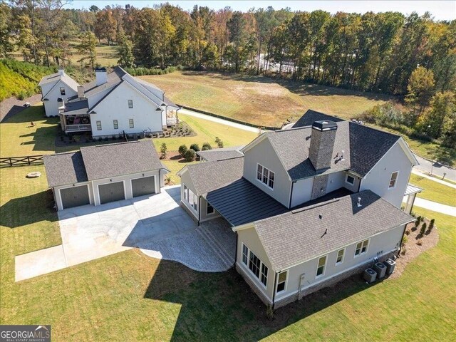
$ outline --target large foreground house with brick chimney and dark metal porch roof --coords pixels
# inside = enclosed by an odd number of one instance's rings
[[[244,155],[185,166],[182,207],[237,232],[236,267],[274,308],[397,254],[414,165],[398,135],[309,110]]]

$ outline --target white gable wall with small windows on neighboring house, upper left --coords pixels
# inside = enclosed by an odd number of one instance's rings
[[[133,108],[128,108],[128,100],[133,100]],[[128,83],[115,88],[90,114],[93,136],[140,133],[144,130],[160,132],[162,130],[162,113],[157,106],[144,95],[138,93]],[[134,128],[130,128],[129,120],[133,119]],[[113,120],[118,120],[115,130]],[[97,121],[101,121],[102,130],[97,130]]]

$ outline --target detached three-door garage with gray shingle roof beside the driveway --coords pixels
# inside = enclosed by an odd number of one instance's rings
[[[168,172],[147,140],[45,155],[44,166],[58,210],[159,193]]]

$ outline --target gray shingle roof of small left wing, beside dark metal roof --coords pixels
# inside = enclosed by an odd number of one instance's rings
[[[242,177],[244,157],[227,160],[200,162],[187,165],[197,195],[224,187]]]

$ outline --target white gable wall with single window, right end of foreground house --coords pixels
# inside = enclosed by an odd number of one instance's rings
[[[394,188],[388,188],[391,173],[399,171]],[[393,147],[379,160],[377,165],[361,181],[361,190],[372,190],[395,207],[400,208],[408,180],[412,172],[412,162],[405,155],[404,150],[396,142]]]

